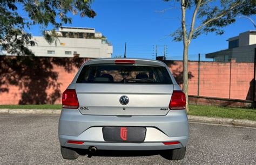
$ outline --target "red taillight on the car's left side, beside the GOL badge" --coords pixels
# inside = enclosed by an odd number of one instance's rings
[[[62,107],[77,109],[79,106],[75,89],[66,89],[62,94]]]

